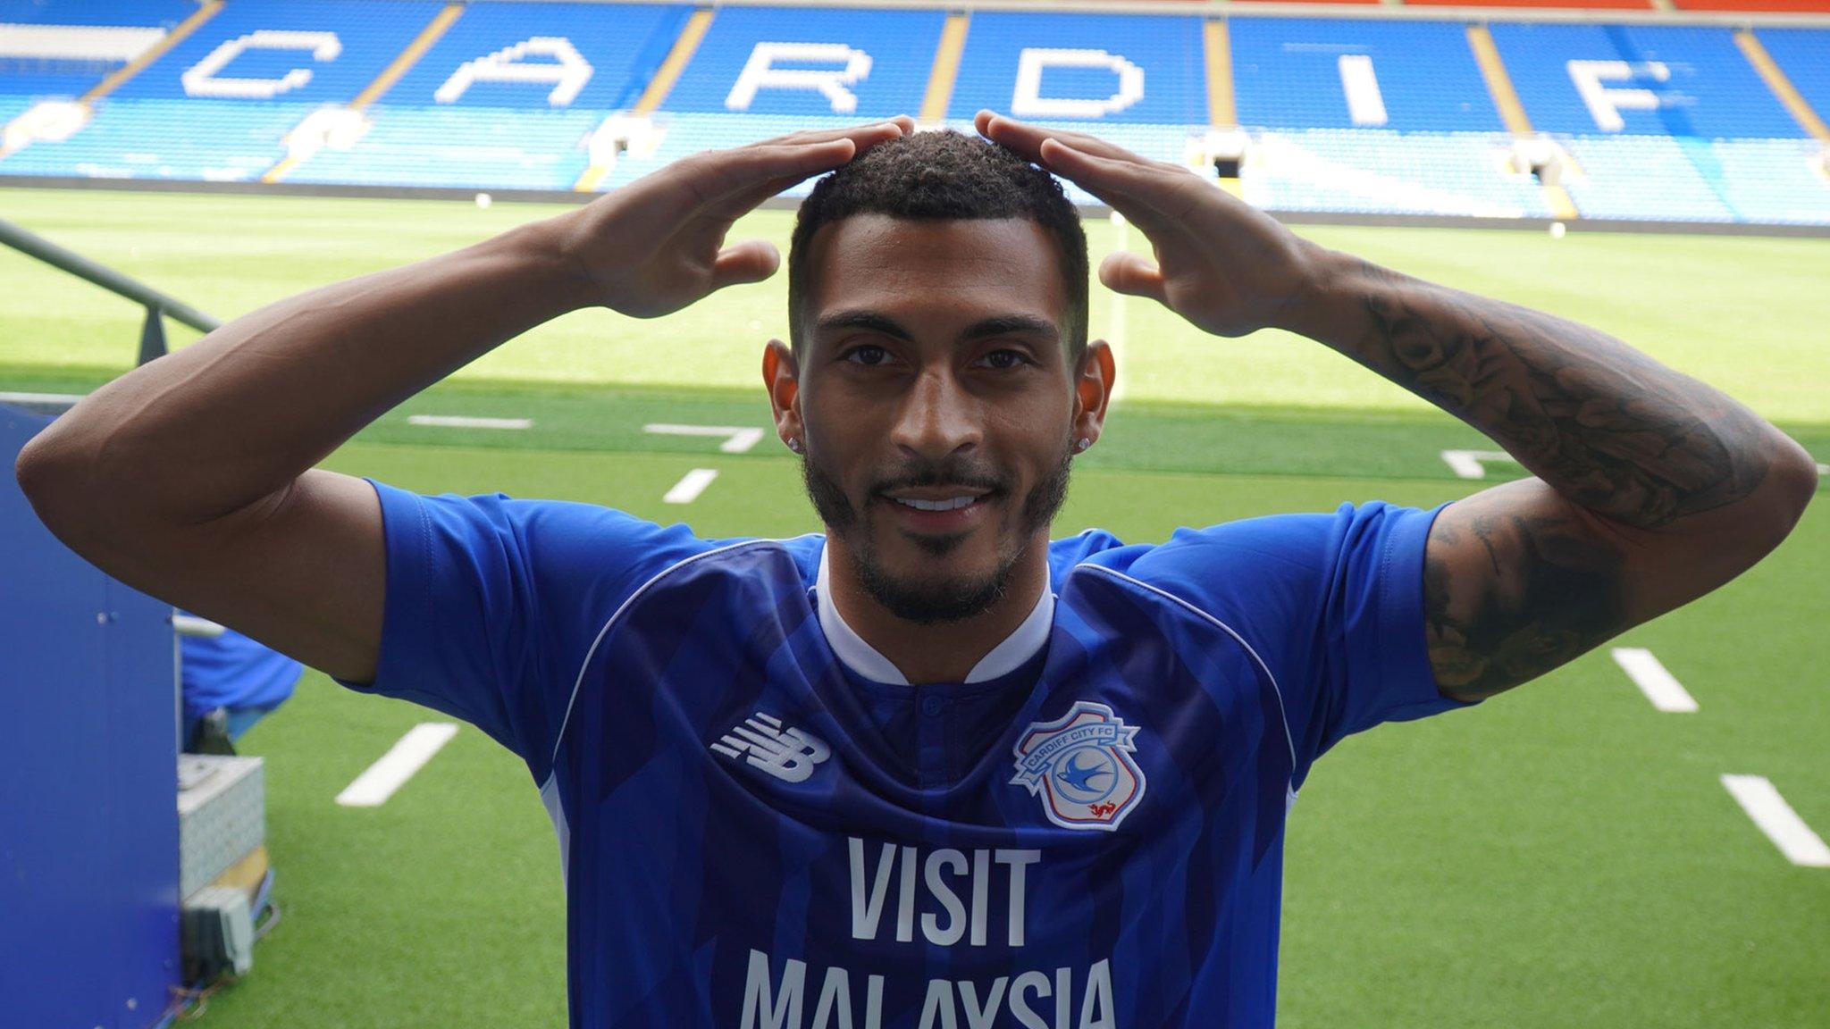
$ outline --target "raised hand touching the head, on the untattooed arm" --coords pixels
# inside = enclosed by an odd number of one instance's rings
[[[791,185],[915,132],[915,121],[796,132],[736,150],[675,161],[562,214],[560,245],[586,280],[589,302],[653,319],[781,265],[763,240],[725,245],[732,222]]]

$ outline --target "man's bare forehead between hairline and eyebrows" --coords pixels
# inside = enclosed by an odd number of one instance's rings
[[[1061,324],[1067,309],[1056,244],[1027,218],[858,214],[814,233],[807,256],[813,320],[869,309],[911,320],[1032,315]]]

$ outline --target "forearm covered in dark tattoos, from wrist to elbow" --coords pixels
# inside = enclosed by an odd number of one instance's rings
[[[1347,255],[1292,328],[1482,430],[1568,500],[1656,529],[1733,505],[1803,450],[1614,337]]]

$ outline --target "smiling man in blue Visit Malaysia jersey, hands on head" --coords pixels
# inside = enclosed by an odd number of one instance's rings
[[[1285,818],[1378,721],[1515,687],[1779,544],[1786,436],[1570,322],[1325,251],[1202,183],[990,114],[701,154],[456,255],[247,315],[20,456],[128,584],[518,753],[560,835],[573,1025],[1270,1025]],[[1138,225],[1105,286],[1299,331],[1539,478],[1437,511],[1049,542],[1096,445],[1071,178]],[[562,311],[769,276],[763,374],[827,525],[695,538],[311,465]],[[690,359],[690,355],[683,355]]]

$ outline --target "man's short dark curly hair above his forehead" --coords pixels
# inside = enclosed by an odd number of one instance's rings
[[[1087,233],[1061,183],[1016,152],[959,132],[917,132],[878,143],[820,179],[800,205],[789,244],[789,339],[802,352],[807,249],[822,225],[855,214],[910,222],[1027,218],[1043,227],[1061,258],[1067,287],[1069,363],[1087,350]]]

